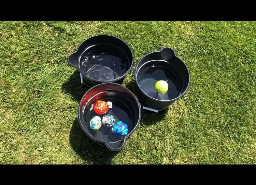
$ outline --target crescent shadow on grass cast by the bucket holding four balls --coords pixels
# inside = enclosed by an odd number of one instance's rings
[[[89,164],[111,164],[112,158],[118,154],[89,138],[80,128],[77,119],[72,124],[69,141],[73,151]]]

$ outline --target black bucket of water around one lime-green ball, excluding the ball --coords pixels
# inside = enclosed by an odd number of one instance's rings
[[[187,66],[170,47],[143,56],[136,65],[134,78],[140,104],[157,111],[182,97],[190,85]],[[169,88],[166,93],[155,90],[158,80],[167,80]]]

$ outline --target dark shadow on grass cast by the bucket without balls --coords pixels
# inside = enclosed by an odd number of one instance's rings
[[[84,93],[89,90],[89,87],[81,84],[80,73],[76,70],[69,79],[62,84],[62,90],[70,94],[73,100],[80,102]]]

